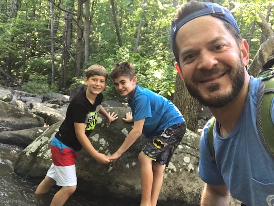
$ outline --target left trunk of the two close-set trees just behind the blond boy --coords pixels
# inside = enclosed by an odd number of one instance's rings
[[[74,77],[79,76],[80,68],[81,68],[81,54],[82,54],[82,38],[83,38],[83,1],[78,0],[77,6],[77,40],[76,40],[76,51],[75,51],[75,69],[74,69]]]

